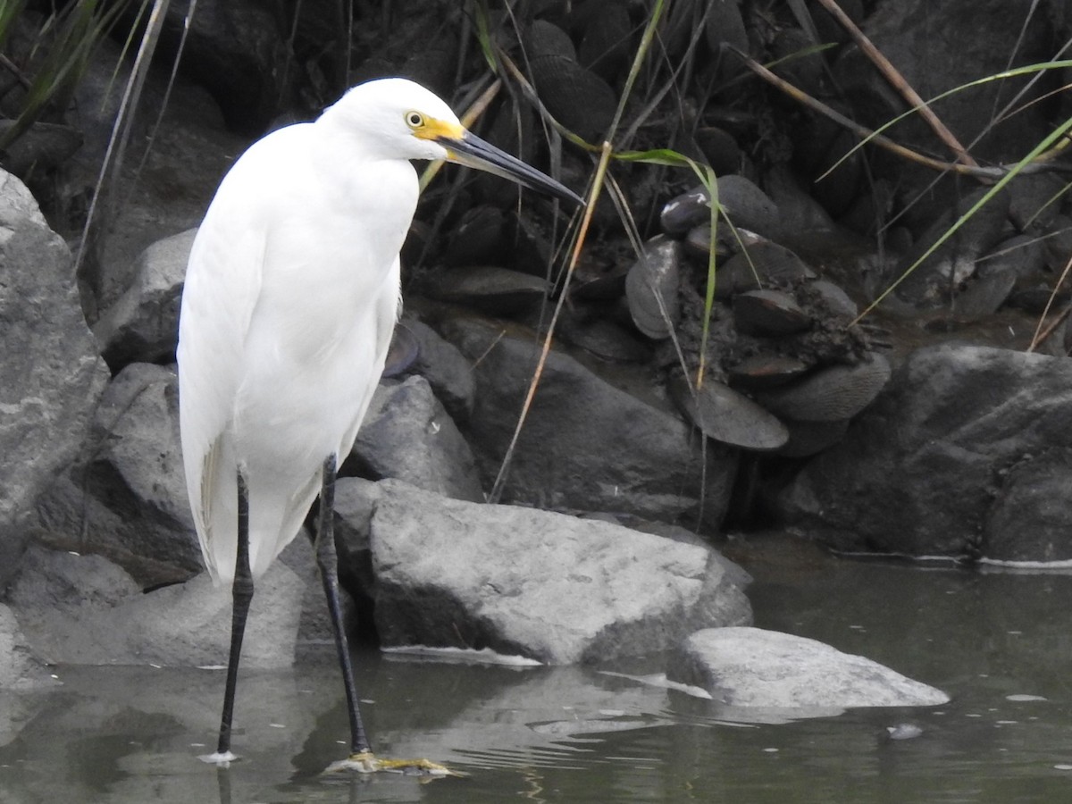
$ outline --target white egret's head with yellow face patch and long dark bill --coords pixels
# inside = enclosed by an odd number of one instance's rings
[[[466,130],[442,99],[405,78],[359,84],[326,110],[324,119],[338,119],[347,130],[360,132],[366,152],[382,159],[447,160],[583,204],[564,184]]]

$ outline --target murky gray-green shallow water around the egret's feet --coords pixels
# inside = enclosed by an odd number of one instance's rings
[[[747,724],[594,668],[361,652],[377,753],[470,774],[422,784],[321,773],[347,738],[341,684],[323,660],[243,674],[243,759],[226,772],[196,759],[212,748],[221,672],[57,668],[61,686],[0,697],[0,802],[1072,800],[1072,576],[836,560],[784,540],[735,552],[757,579],[757,625],[866,655],[952,701]]]

